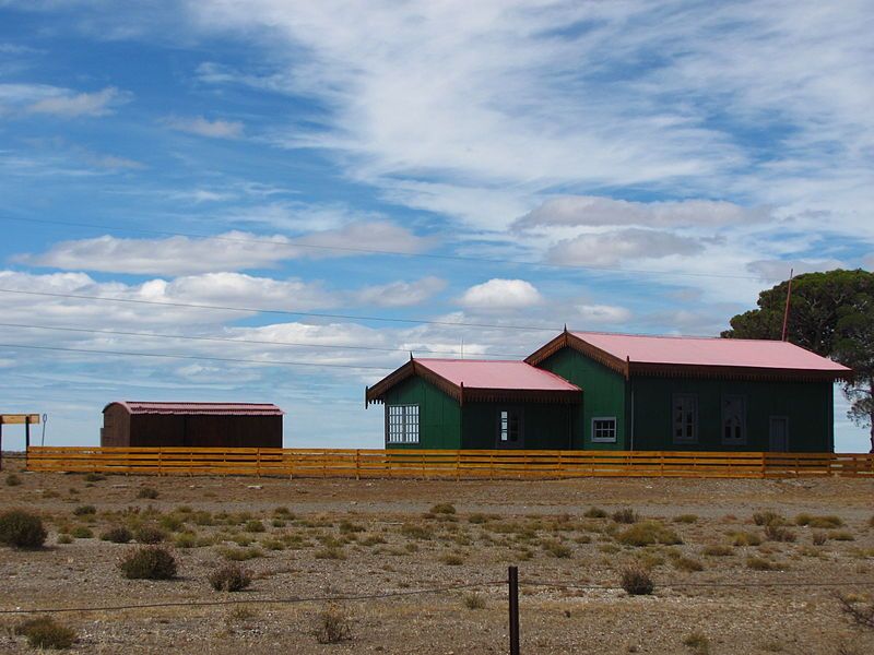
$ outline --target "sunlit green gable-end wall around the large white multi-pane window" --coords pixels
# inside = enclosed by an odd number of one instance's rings
[[[458,402],[422,378],[408,378],[390,389],[386,393],[386,413],[389,405],[418,405],[418,443],[391,443],[387,448],[461,448]]]

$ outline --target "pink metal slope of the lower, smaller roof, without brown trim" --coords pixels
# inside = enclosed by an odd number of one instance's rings
[[[418,359],[414,361],[464,389],[517,389],[523,391],[579,391],[555,373],[524,361],[494,359]]]

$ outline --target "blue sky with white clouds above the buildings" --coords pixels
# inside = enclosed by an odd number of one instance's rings
[[[718,335],[871,270],[871,34],[854,0],[0,0],[2,409],[59,445],[115,400],[272,402],[286,446],[379,448],[411,352]]]

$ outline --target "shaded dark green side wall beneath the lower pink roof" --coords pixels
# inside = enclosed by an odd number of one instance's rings
[[[522,448],[568,450],[576,405],[542,403],[466,403],[463,412],[462,448],[492,449],[498,440],[498,412],[522,412]]]

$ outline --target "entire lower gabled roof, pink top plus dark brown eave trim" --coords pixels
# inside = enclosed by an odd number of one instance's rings
[[[365,402],[383,402],[386,392],[413,376],[424,378],[460,403],[501,400],[578,403],[581,396],[576,384],[524,361],[411,359],[368,388]]]

